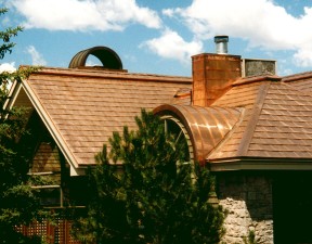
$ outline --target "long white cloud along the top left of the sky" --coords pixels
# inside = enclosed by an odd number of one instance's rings
[[[130,23],[159,28],[155,11],[140,8],[135,0],[11,0],[26,28],[50,30],[122,30]]]

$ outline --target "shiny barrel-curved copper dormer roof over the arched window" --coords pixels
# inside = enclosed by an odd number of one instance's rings
[[[199,163],[205,163],[207,155],[231,131],[240,113],[239,108],[178,104],[164,104],[154,110],[154,114],[174,116],[184,125]]]

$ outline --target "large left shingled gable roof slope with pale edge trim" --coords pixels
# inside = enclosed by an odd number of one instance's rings
[[[191,84],[178,76],[43,68],[23,87],[67,160],[79,167],[94,164],[113,131],[133,128],[141,108],[174,102],[176,92]]]

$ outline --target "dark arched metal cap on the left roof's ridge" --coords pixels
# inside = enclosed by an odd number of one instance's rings
[[[118,54],[114,50],[107,47],[102,47],[102,46],[86,49],[86,50],[78,52],[72,59],[68,67],[77,68],[77,67],[86,66],[86,61],[89,55],[96,56],[103,64],[103,67],[105,68],[122,69],[122,63]]]

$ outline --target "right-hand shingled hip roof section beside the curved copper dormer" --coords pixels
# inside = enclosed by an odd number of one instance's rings
[[[207,159],[212,163],[225,158],[311,160],[311,73],[304,77],[258,77],[235,82],[213,106],[245,107],[242,121]]]

